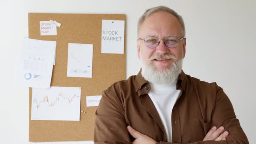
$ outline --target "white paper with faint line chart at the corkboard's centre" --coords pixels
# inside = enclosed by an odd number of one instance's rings
[[[67,76],[92,78],[92,44],[69,43]]]

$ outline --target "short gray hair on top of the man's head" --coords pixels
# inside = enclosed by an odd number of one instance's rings
[[[151,14],[161,12],[161,11],[171,13],[178,19],[178,21],[181,23],[182,35],[183,35],[183,37],[185,37],[186,31],[185,31],[185,24],[184,24],[184,20],[183,20],[182,16],[180,16],[178,13],[176,13],[174,10],[170,9],[169,7],[165,7],[165,6],[152,7],[150,9],[146,10],[145,13],[143,13],[143,15],[140,17],[140,19],[138,21],[137,35],[139,34],[141,25],[144,22],[144,20]]]

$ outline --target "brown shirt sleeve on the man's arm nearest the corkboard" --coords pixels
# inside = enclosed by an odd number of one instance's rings
[[[95,112],[94,144],[131,144],[124,115],[115,93],[104,91]]]

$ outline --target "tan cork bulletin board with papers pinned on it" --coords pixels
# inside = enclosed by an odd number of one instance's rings
[[[61,27],[56,36],[41,36],[39,22],[49,20]],[[126,79],[125,49],[124,54],[101,53],[102,20],[125,20],[125,15],[29,13],[29,38],[57,43],[51,86],[81,87],[80,121],[31,121],[30,88],[30,142],[93,140],[97,107],[86,107],[86,96],[102,95],[114,82]],[[68,43],[93,44],[92,78],[67,77]]]

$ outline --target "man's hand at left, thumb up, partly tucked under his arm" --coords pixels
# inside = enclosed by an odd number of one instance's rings
[[[156,141],[151,137],[148,137],[140,132],[136,131],[134,128],[128,125],[127,127],[128,132],[131,134],[132,137],[135,138],[135,141],[132,144],[155,144]]]

